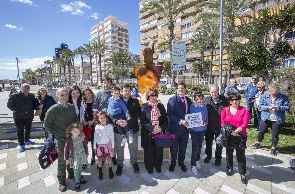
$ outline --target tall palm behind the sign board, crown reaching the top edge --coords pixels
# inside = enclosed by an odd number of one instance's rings
[[[163,18],[166,22],[168,22],[168,30],[170,37],[169,52],[170,61],[172,61],[172,40],[174,38],[174,22],[176,21],[178,14],[184,14],[183,10],[186,9],[191,2],[181,3],[181,0],[146,0],[144,2],[145,5],[140,9],[140,12],[148,12],[149,14],[155,15],[155,18]],[[174,85],[174,71],[172,71],[172,75]]]

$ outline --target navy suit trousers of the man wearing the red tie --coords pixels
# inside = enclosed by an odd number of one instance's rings
[[[184,130],[181,136],[175,136],[172,146],[170,147],[171,164],[176,165],[176,157],[178,153],[178,164],[183,164],[186,146],[189,141],[189,130]]]

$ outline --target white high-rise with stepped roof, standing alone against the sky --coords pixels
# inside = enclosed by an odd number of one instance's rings
[[[101,57],[102,76],[106,72],[107,64],[110,63],[106,62],[106,59],[109,58],[112,53],[119,51],[128,52],[129,50],[129,28],[127,27],[127,25],[127,22],[122,22],[118,20],[117,17],[110,15],[109,17],[104,19],[104,21],[99,22],[99,24],[90,29],[90,41],[94,41],[99,38],[100,40],[105,40],[106,45],[109,46],[109,51],[105,52],[104,56]],[[96,82],[97,80],[95,60],[96,56],[92,58],[92,61],[94,62],[91,69],[93,82]],[[99,64],[98,57],[97,64]],[[129,72],[129,69],[125,70]]]

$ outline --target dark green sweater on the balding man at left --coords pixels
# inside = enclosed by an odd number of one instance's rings
[[[69,104],[68,108],[58,103],[51,106],[44,119],[45,129],[54,135],[55,139],[66,139],[65,130],[72,123],[80,123],[73,104]]]

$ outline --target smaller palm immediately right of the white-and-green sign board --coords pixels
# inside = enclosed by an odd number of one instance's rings
[[[208,45],[207,41],[203,38],[203,36],[200,33],[197,33],[196,35],[193,35],[194,39],[191,39],[191,45],[189,48],[189,51],[196,51],[199,50],[201,54],[201,60],[202,60],[202,67],[203,67],[203,78],[205,79],[206,73],[205,73],[205,64],[204,64],[204,51],[205,47]]]

